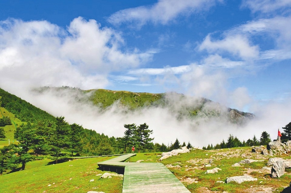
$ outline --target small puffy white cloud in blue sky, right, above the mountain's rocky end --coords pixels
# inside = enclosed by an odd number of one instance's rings
[[[254,59],[259,55],[259,47],[252,46],[249,39],[241,34],[229,35],[222,40],[211,40],[208,34],[199,50],[207,50],[210,53],[228,52],[244,60]]]

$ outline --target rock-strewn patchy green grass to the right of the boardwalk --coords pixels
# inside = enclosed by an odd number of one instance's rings
[[[193,150],[190,153],[182,153],[178,156],[172,156],[162,161],[159,161],[161,153],[138,153],[137,156],[131,157],[127,161],[136,162],[137,160],[145,160],[142,162],[162,162],[166,165],[180,165],[181,168],[168,168],[191,192],[205,192],[203,188],[207,188],[212,191],[227,191],[229,193],[248,193],[255,192],[256,189],[263,187],[272,187],[273,192],[280,192],[284,187],[289,186],[291,181],[291,169],[286,169],[286,174],[279,179],[274,179],[270,177],[270,172],[261,170],[266,166],[267,160],[271,156],[262,156],[257,158],[256,153],[251,153],[252,147],[239,147],[230,149],[220,149],[220,150]],[[228,154],[228,156],[223,156],[222,154]],[[245,154],[247,157],[242,157]],[[284,159],[290,158],[290,156],[282,155]],[[255,159],[262,160],[263,162],[253,162],[250,164],[241,164],[241,167],[232,167],[234,163],[237,163],[243,159]],[[150,160],[151,159],[151,160]],[[204,167],[205,164],[209,163],[212,159],[211,167]],[[187,162],[188,161],[188,162]],[[186,167],[185,167],[186,166]],[[189,167],[191,166],[191,167]],[[205,174],[206,170],[218,167],[222,169],[215,174]],[[254,182],[243,182],[237,184],[231,182],[226,183],[216,183],[217,181],[226,182],[228,177],[238,176],[248,174],[258,181]],[[197,183],[188,184],[185,179],[191,178],[195,179]],[[250,189],[249,189],[250,188]],[[252,189],[253,188],[253,189]]]

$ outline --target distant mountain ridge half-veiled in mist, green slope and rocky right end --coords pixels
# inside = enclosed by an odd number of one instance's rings
[[[54,92],[55,95],[69,95],[77,102],[91,103],[102,110],[116,105],[125,111],[138,111],[142,108],[165,108],[177,114],[177,119],[195,117],[227,117],[230,121],[242,123],[255,115],[220,105],[207,98],[195,98],[176,92],[147,93],[112,91],[108,89],[81,90],[69,86],[42,87],[34,90],[38,93]],[[66,94],[64,94],[66,93]]]

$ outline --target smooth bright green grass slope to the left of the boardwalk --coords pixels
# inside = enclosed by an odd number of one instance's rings
[[[75,159],[55,165],[47,165],[50,160],[29,162],[24,171],[0,176],[1,192],[121,192],[122,179],[112,176],[101,179],[97,174],[105,172],[97,169],[97,162],[113,157]],[[89,182],[91,179],[95,181]],[[51,185],[51,186],[48,186]]]

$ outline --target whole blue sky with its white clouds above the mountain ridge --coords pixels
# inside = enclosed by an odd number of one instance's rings
[[[175,91],[253,112],[290,102],[290,23],[290,0],[2,1],[0,87]]]

